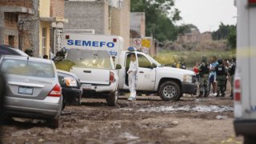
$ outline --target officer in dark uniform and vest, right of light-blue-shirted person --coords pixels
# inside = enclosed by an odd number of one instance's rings
[[[217,75],[217,83],[218,83],[218,89],[217,89],[217,96],[216,97],[225,97],[225,84],[226,84],[226,76],[227,71],[223,64],[222,59],[218,59],[218,65],[215,67],[216,75]],[[221,93],[221,95],[220,95]]]

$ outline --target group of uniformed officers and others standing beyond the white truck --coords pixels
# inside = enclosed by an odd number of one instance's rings
[[[227,82],[231,84],[230,97],[233,98],[233,82],[235,71],[235,58],[228,59],[217,58],[213,56],[210,61],[206,57],[202,57],[202,61],[197,62],[193,68],[197,74],[199,82],[198,97],[215,97],[226,96]],[[210,93],[211,87],[212,92]]]

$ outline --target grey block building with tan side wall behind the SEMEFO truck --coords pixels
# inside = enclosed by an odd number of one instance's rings
[[[130,46],[130,0],[66,0],[65,30],[94,30],[94,34],[114,34]]]

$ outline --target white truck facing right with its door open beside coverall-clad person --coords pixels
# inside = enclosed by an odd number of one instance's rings
[[[132,47],[129,51],[122,51],[116,59],[122,66],[122,69],[118,70],[119,90],[129,90],[127,70],[130,65],[130,54],[133,53],[138,61],[137,91],[158,92],[163,101],[178,100],[182,94],[196,94],[197,86],[193,71],[162,66],[154,58]]]

